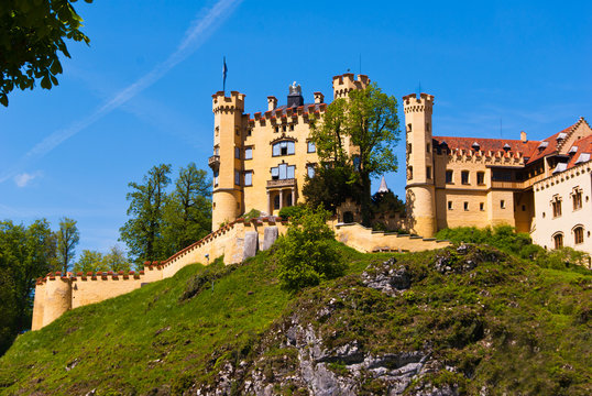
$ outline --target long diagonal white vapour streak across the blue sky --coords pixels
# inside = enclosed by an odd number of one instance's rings
[[[140,77],[135,82],[121,89],[105,103],[98,107],[91,114],[74,122],[68,128],[58,130],[33,146],[14,166],[0,174],[0,183],[3,183],[11,177],[18,175],[25,165],[31,161],[37,160],[52,150],[57,147],[64,141],[76,135],[78,132],[97,122],[99,119],[128,102],[142,90],[152,86],[166,75],[173,67],[185,61],[218,28],[239,6],[242,0],[219,0],[212,8],[200,12],[191,22],[189,29],[185,32],[185,36],[173,54],[163,63],[156,65],[151,72]]]

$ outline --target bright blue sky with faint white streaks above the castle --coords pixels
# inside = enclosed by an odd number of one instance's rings
[[[107,252],[125,222],[129,182],[169,163],[207,169],[211,95],[246,111],[332,97],[351,69],[401,97],[435,95],[434,133],[533,140],[592,121],[592,6],[585,1],[96,1],[76,3],[90,46],[70,43],[59,86],[14,91],[0,108],[0,219],[78,221]],[[402,111],[399,117],[403,118]],[[500,128],[502,120],[502,130]],[[398,148],[404,161],[403,144]],[[404,173],[386,175],[404,196]],[[376,180],[377,187],[377,180]]]

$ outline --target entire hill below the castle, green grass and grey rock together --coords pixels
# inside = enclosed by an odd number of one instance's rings
[[[0,394],[592,394],[590,272],[340,250],[348,274],[296,296],[261,253],[69,311],[0,358]]]

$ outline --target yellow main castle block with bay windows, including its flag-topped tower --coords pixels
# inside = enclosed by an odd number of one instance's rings
[[[370,84],[368,76],[344,74],[332,79],[333,98],[347,97]],[[289,88],[287,105],[267,98],[267,111],[244,113],[244,95],[232,91],[212,96],[213,172],[212,229],[238,219],[251,209],[277,215],[303,201],[308,167],[318,163],[309,142],[310,118],[322,117],[322,94],[305,103],[299,86]],[[348,142],[344,146],[350,150]]]

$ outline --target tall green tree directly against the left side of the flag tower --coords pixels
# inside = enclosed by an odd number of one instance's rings
[[[211,232],[211,180],[195,163],[179,169],[166,200],[164,240],[168,255]]]

